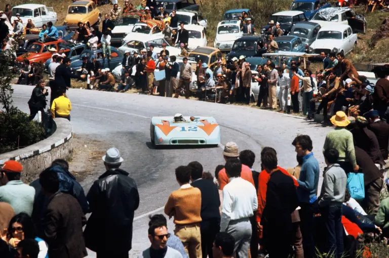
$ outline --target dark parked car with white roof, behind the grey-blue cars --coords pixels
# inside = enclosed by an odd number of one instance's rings
[[[288,35],[292,27],[297,22],[307,21],[305,14],[301,11],[283,11],[275,13],[270,16],[269,21],[274,21],[275,23],[280,23],[280,28],[284,31],[284,35]],[[262,35],[270,29],[270,26],[267,24],[262,28]]]

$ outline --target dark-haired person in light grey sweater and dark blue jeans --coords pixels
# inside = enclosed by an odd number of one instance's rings
[[[346,192],[347,176],[336,164],[339,152],[336,149],[324,150],[327,169],[323,172],[322,190],[319,196],[320,213],[325,225],[325,253],[341,257],[343,255],[342,204]]]

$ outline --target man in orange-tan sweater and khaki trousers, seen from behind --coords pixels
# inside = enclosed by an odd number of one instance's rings
[[[165,204],[165,214],[174,217],[174,234],[181,239],[189,258],[201,258],[201,191],[189,184],[190,168],[176,168],[180,189],[173,191]]]

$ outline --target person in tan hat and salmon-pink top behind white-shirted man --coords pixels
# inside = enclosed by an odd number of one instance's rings
[[[224,146],[223,157],[226,162],[228,159],[238,159],[239,158],[238,145],[233,141],[227,142]],[[253,173],[251,172],[251,169],[243,164],[242,164],[241,178],[249,181],[255,187],[254,180],[253,180]],[[229,178],[227,176],[227,173],[225,173],[224,168],[220,170],[218,175],[218,180],[220,182],[219,189],[223,190],[224,186],[229,183]]]

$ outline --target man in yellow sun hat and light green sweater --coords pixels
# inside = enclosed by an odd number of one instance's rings
[[[340,165],[344,172],[346,174],[352,171],[358,172],[359,166],[355,158],[353,134],[345,128],[350,121],[342,111],[336,112],[336,115],[330,120],[336,128],[327,134],[323,153],[326,149],[336,149],[339,152],[336,163]]]

